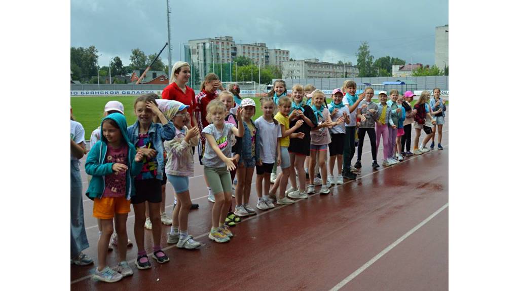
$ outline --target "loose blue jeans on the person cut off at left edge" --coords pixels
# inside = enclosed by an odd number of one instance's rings
[[[70,256],[75,258],[87,248],[87,232],[83,218],[83,185],[79,161],[70,161]]]

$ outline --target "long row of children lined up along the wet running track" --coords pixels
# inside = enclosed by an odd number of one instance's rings
[[[174,76],[183,74],[186,81],[188,64],[175,66]],[[185,89],[182,92],[186,93]],[[153,93],[140,96],[133,106],[137,120],[129,127],[122,104],[117,101],[106,104],[98,141],[94,140],[91,145],[85,165],[87,174],[92,176],[86,195],[94,201],[93,216],[98,218],[101,233],[99,262],[93,275],[95,280],[116,282],[133,274],[126,261],[127,245],[131,243],[126,230],[130,205],[135,212],[133,231],[138,246],[134,264],[138,269],[151,268],[144,248],[146,210],[151,224],[159,225],[163,213],[160,203],[164,200],[161,184],[166,179],[173,186],[176,201],[167,242],[179,248],[200,247],[187,231],[192,207],[188,178],[194,175],[195,146],[199,148],[209,200],[214,202],[209,239],[218,243],[233,237],[229,226],[236,225],[240,217],[256,214],[249,205],[254,169],[256,208],[268,210],[275,207],[274,202],[278,205],[292,204],[295,202],[293,199],[305,199],[315,193],[316,181],[319,180],[317,173],[324,181],[321,182],[321,194],[330,193],[329,187],[342,184],[343,178],[354,179],[356,169],[362,167],[360,161],[366,133],[371,141],[374,168],[378,167],[376,152],[380,135],[384,139],[383,165],[397,163],[408,155],[408,151],[403,151],[406,143],[409,150],[411,142],[410,128],[406,128],[411,124],[406,123],[408,118],[414,118],[417,131],[414,154],[428,151],[425,144],[432,138],[434,124],[439,126],[438,147],[441,148],[440,125],[444,122],[446,108],[445,102],[439,98],[439,89],[438,93],[434,90],[434,100],[430,103],[427,102],[428,91],[422,92],[411,109],[414,95],[409,91],[404,94],[405,101],[396,90],[390,92],[391,101],[387,101],[387,93],[382,91],[380,103],[376,104],[371,100],[372,88],[356,95],[356,84],[345,81],[343,88],[333,91],[330,104],[326,104],[325,94],[311,86],[295,85],[289,98],[285,82],[277,80],[268,96],[260,99],[263,114],[256,120],[252,119],[256,114],[256,103],[249,98],[241,99],[238,85],[223,90],[218,77],[208,74],[200,89],[199,94],[188,100],[190,105],[175,100],[157,100],[158,96]],[[79,123],[72,121],[71,112],[71,179],[76,179],[77,160],[85,154],[84,137],[81,139],[79,127],[82,129]],[[354,167],[350,167],[357,128],[358,160]],[[418,147],[421,129],[428,135]],[[330,159],[327,162],[328,151]],[[335,162],[336,176],[333,175]],[[281,167],[279,175],[276,174],[278,165]],[[275,175],[274,185],[271,185],[271,174]],[[235,176],[238,184],[233,211],[231,192]],[[286,189],[289,181],[291,187]],[[77,189],[74,191],[77,193]],[[72,192],[71,188],[71,195]],[[82,207],[76,212],[82,223]],[[113,221],[117,235],[112,237]],[[84,232],[84,225],[75,226],[79,230],[81,227]],[[71,235],[72,230],[73,225]],[[152,234],[152,257],[161,264],[168,262],[169,258],[160,246],[161,228],[152,228]],[[81,253],[88,247],[88,242],[81,244],[81,240],[86,241],[86,235],[78,237],[80,235],[76,235],[71,262],[92,264],[93,260]],[[110,243],[111,238],[115,243]],[[111,245],[117,246],[119,251],[119,264],[115,268],[106,265]]]

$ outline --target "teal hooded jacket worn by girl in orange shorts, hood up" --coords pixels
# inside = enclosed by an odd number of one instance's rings
[[[124,142],[128,145],[128,170],[126,171],[126,199],[130,200],[135,195],[135,186],[133,184],[133,178],[138,175],[143,167],[142,162],[135,161],[135,146],[130,142],[130,138],[127,133],[126,118],[120,113],[112,113],[101,121],[101,132],[103,132],[103,121],[106,119],[112,119],[117,123],[119,130],[121,131]],[[85,170],[87,174],[92,176],[86,196],[91,200],[94,198],[102,198],[104,189],[106,187],[104,176],[113,174],[112,166],[114,163],[107,163],[105,161],[106,152],[108,151],[107,141],[104,135],[101,134],[101,140],[91,146],[85,163]]]

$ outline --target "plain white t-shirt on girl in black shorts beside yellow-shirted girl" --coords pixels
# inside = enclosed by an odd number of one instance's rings
[[[254,121],[254,125],[260,133],[260,141],[256,146],[260,146],[260,158],[263,163],[272,164],[276,162],[276,149],[278,137],[281,137],[281,126],[279,124],[266,121],[260,116]]]

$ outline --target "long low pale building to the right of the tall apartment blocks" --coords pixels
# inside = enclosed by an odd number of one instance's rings
[[[357,66],[319,62],[319,59],[301,61],[284,61],[282,63],[283,79],[317,79],[357,77]]]

